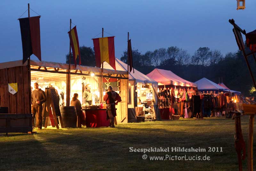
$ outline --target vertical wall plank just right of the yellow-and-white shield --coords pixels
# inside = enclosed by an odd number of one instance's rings
[[[17,113],[24,113],[24,86],[23,86],[23,71],[22,67],[15,67],[15,77],[18,83],[17,92]],[[28,103],[26,101],[26,103]]]

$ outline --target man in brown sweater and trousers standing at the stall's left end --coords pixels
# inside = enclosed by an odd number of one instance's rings
[[[33,126],[34,125],[34,118],[36,118],[36,127],[38,127],[38,129],[42,129],[42,110],[43,110],[43,106],[42,104],[46,101],[46,96],[43,90],[38,88],[38,83],[35,82],[34,83],[34,88],[35,90],[33,90],[32,92],[32,114],[33,114]]]

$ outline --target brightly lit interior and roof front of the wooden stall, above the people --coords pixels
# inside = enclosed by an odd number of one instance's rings
[[[47,87],[57,89],[60,96],[60,105],[66,106],[67,99],[67,75],[68,64],[55,62],[31,61],[31,87],[37,82],[39,88],[45,90]],[[103,69],[101,81],[101,68],[71,65],[70,68],[70,100],[74,93],[78,94],[78,99],[82,103],[82,94],[87,84],[91,85],[93,94],[93,105],[102,102],[106,87],[112,82],[113,89],[119,93],[122,103],[117,105],[117,122],[127,122],[127,93],[128,93],[128,75],[124,71],[113,71]],[[102,82],[102,83],[101,83]],[[100,93],[101,92],[101,93]]]

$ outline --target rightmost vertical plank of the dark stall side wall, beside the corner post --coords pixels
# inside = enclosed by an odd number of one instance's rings
[[[31,113],[31,99],[29,93],[31,92],[31,83],[28,83],[28,66],[22,67],[23,85],[24,85],[24,113]],[[29,90],[30,89],[30,90]]]

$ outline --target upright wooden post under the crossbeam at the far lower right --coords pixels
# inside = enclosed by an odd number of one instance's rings
[[[254,115],[249,117],[249,132],[248,132],[248,171],[253,171],[253,156],[252,156],[252,144],[253,144],[253,124],[254,124]]]

